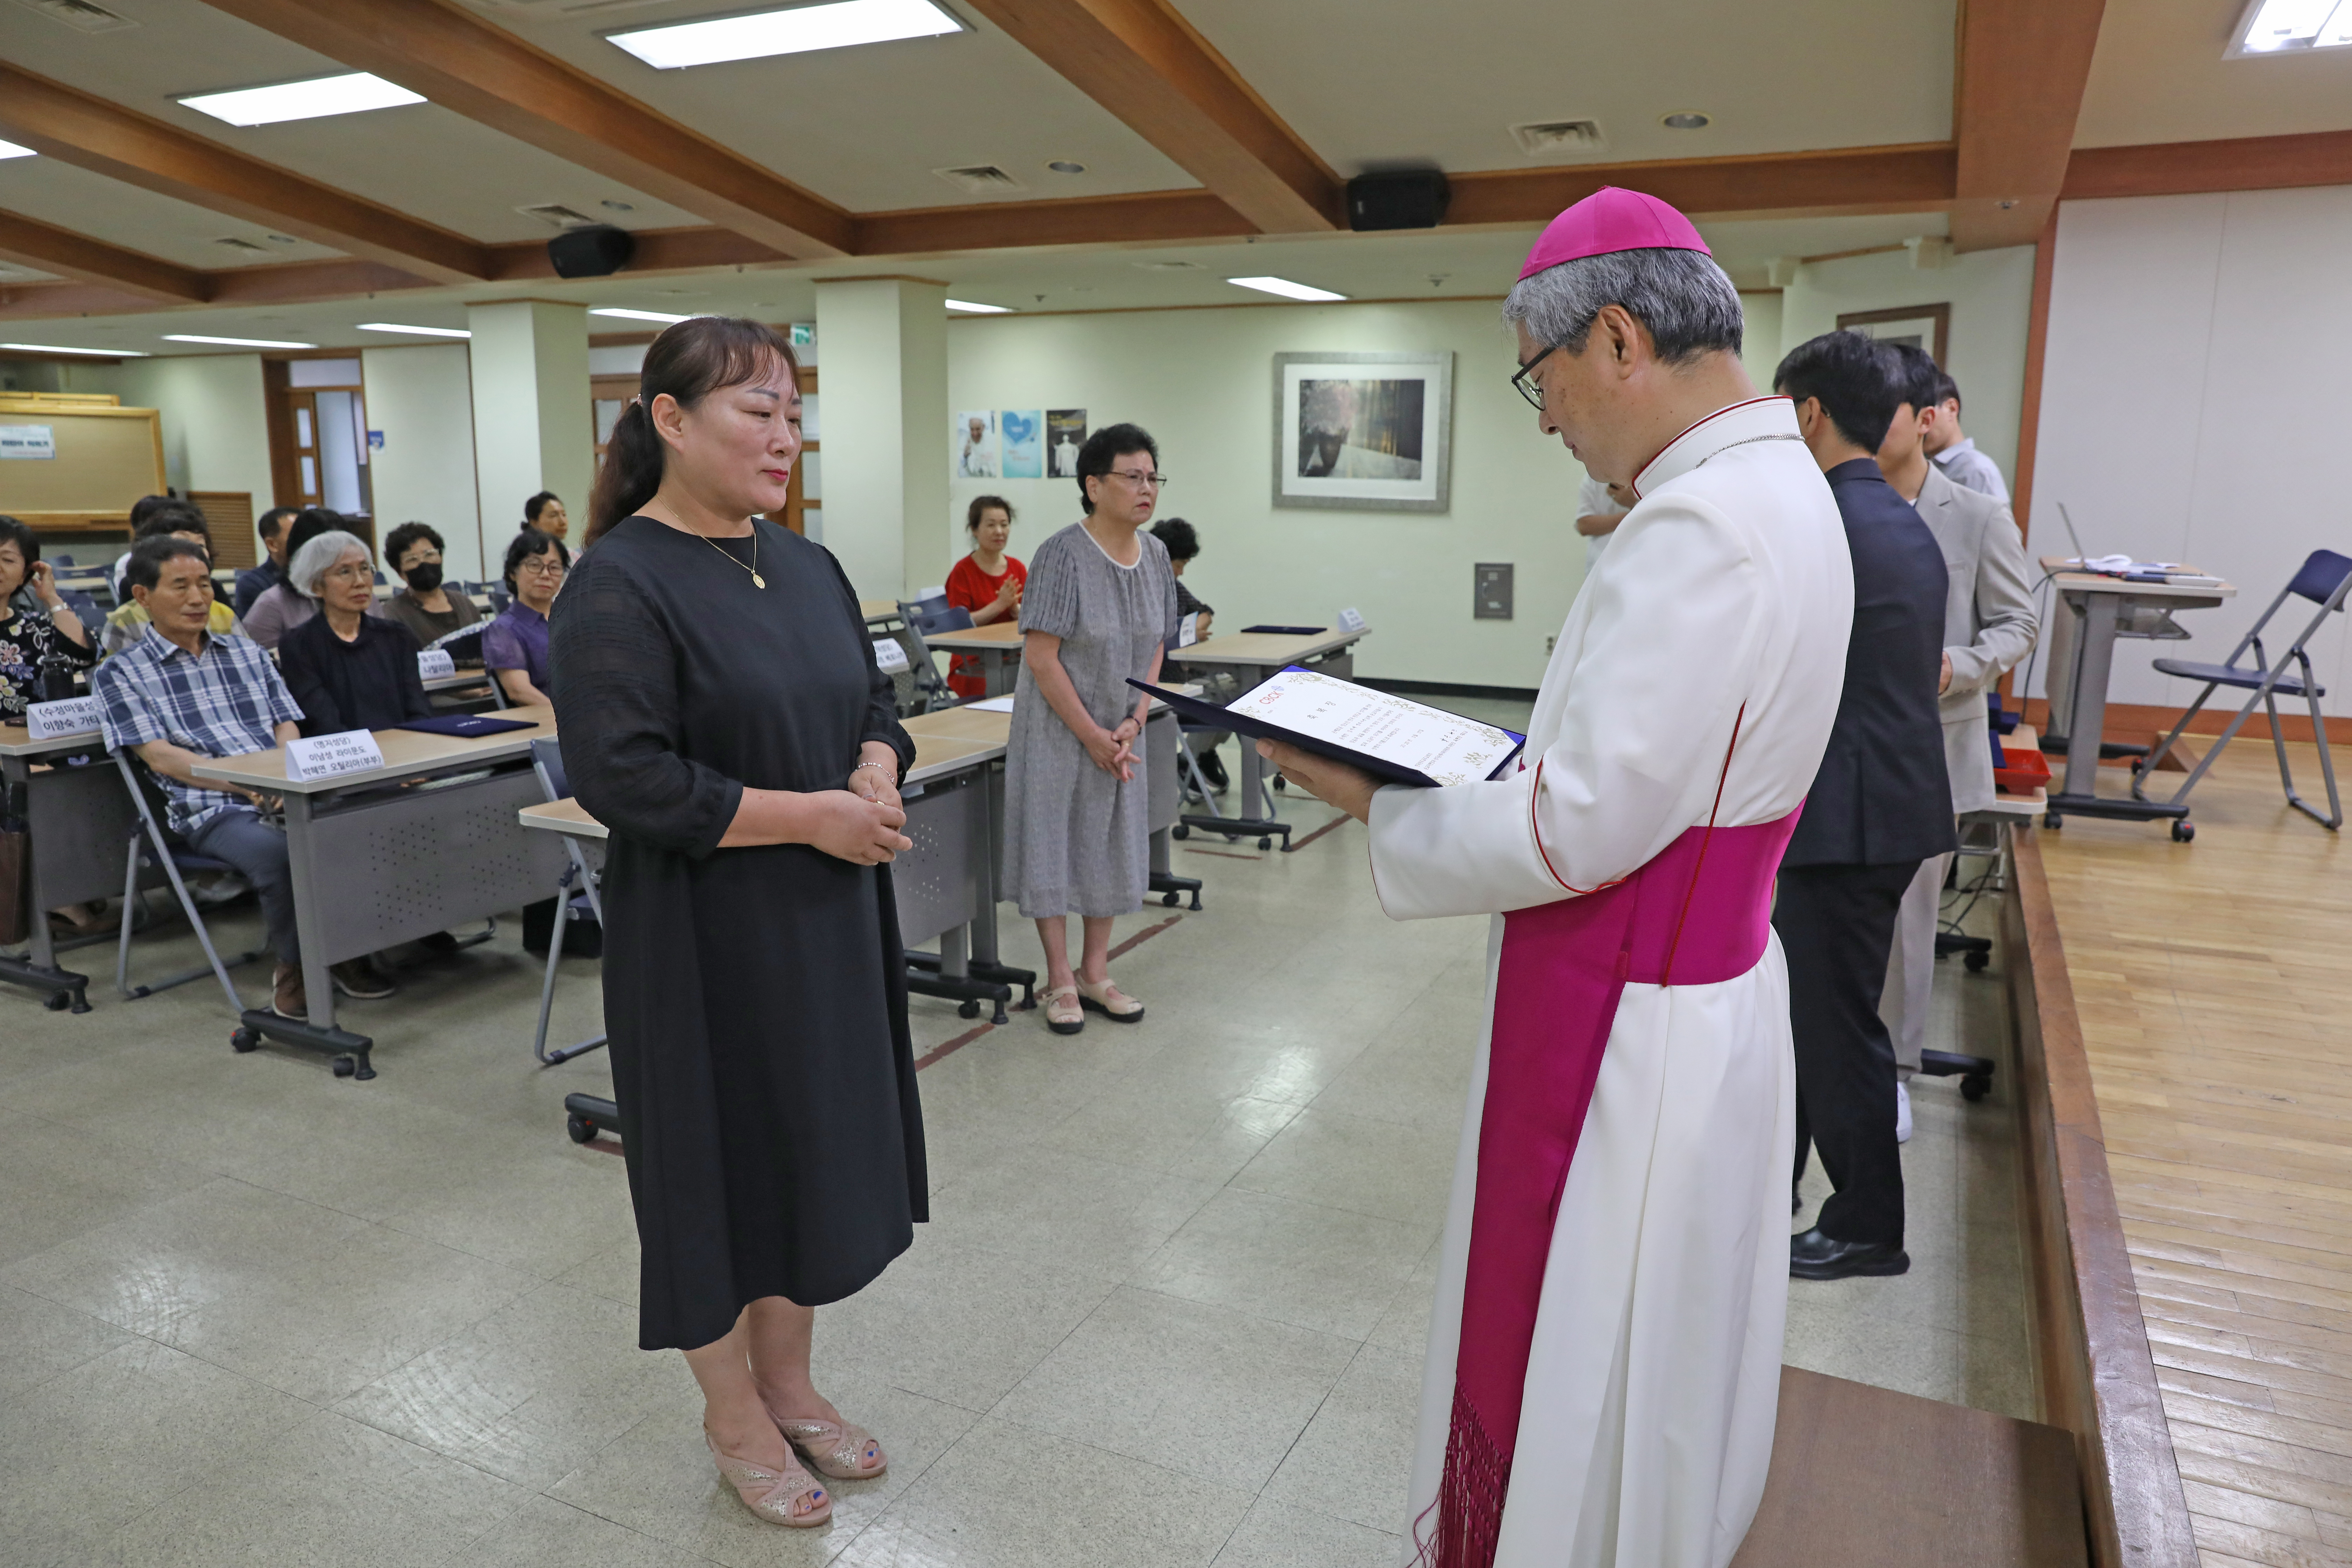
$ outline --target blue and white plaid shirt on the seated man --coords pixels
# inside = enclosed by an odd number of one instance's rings
[[[278,724],[301,722],[301,708],[259,642],[207,635],[202,646],[198,658],[151,625],[146,637],[96,668],[89,686],[106,710],[101,726],[111,750],[169,741],[202,757],[240,757],[278,745]],[[162,771],[155,783],[172,804],[172,832],[179,835],[252,804]]]

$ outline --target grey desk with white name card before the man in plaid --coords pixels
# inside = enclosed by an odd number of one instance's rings
[[[562,875],[562,846],[522,832],[515,811],[539,804],[532,741],[555,733],[555,710],[517,708],[532,729],[466,741],[379,729],[383,766],[289,780],[285,748],[221,757],[193,773],[285,799],[294,926],[308,1025],[247,1013],[273,1039],[350,1056],[372,1079],[372,1039],[334,1023],[329,964],[536,903]],[[557,933],[560,936],[560,933]],[[341,1065],[336,1067],[341,1072]]]

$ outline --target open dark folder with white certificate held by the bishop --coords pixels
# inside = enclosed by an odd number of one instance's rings
[[[1392,691],[1291,665],[1218,708],[1183,691],[1127,682],[1188,719],[1359,766],[1383,783],[1456,785],[1501,778],[1526,736]]]

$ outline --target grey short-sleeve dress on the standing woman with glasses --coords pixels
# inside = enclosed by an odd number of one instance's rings
[[[1094,722],[1117,729],[1136,710],[1127,677],[1150,675],[1152,654],[1176,637],[1176,574],[1169,550],[1136,536],[1143,555],[1120,567],[1084,527],[1070,524],[1030,555],[1021,630],[1061,637],[1061,668]],[[1150,778],[1136,736],[1134,778],[1094,766],[1087,748],[1021,665],[1004,752],[1004,877],[1021,914],[1134,914],[1150,882]]]

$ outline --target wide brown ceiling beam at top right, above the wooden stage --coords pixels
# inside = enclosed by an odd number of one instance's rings
[[[2042,237],[2067,176],[2105,0],[1962,0],[1952,247]]]

